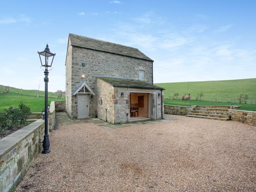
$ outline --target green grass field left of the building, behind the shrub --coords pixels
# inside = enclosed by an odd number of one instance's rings
[[[50,98],[51,101],[64,101],[65,99]],[[0,111],[3,111],[10,106],[18,107],[22,101],[26,106],[30,107],[31,112],[41,112],[44,109],[44,97],[21,95],[16,93],[0,94]]]

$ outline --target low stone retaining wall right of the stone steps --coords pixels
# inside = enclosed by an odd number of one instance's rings
[[[256,111],[228,110],[231,120],[239,121],[248,125],[256,126]]]

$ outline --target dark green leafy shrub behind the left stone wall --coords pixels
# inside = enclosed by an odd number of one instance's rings
[[[4,109],[0,112],[0,132],[6,129],[24,126],[30,115],[30,108],[20,102],[19,108],[10,106],[9,109]]]

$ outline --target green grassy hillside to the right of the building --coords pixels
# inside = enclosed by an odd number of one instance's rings
[[[165,88],[164,98],[171,98],[178,93],[178,99],[185,93],[190,93],[191,100],[196,100],[196,94],[204,94],[203,101],[234,102],[238,103],[240,94],[248,94],[248,104],[256,104],[256,78],[202,81],[202,82],[176,82],[156,83],[156,86]]]

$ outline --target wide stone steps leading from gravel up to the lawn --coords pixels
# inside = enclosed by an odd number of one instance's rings
[[[230,109],[230,106],[200,105],[193,107],[192,111],[186,116],[227,121],[231,120],[228,109]]]

